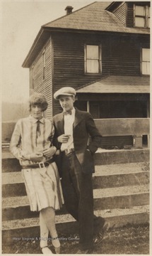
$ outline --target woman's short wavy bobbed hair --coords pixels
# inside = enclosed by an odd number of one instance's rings
[[[38,92],[35,92],[33,93],[33,95],[30,96],[29,104],[30,104],[30,111],[31,111],[31,107],[35,105],[38,105],[39,107],[41,107],[42,111],[47,110],[47,106],[48,106],[45,96]]]

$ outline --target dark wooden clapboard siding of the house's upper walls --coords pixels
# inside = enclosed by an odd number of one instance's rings
[[[140,42],[140,43],[139,43]],[[85,44],[102,46],[102,73],[85,74]],[[141,47],[149,48],[146,35],[119,36],[113,33],[52,33],[30,67],[30,92],[42,92],[49,102],[46,117],[62,111],[52,93],[64,86],[75,89],[107,75],[141,75]],[[42,78],[42,52],[45,49],[45,80]],[[34,67],[34,68],[33,68]]]

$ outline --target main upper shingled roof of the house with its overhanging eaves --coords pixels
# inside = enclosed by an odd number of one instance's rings
[[[71,14],[57,18],[54,21],[46,23],[40,28],[39,33],[33,42],[33,46],[23,62],[23,68],[29,68],[35,60],[37,53],[50,37],[51,31],[76,31],[82,32],[112,32],[112,33],[134,33],[149,34],[149,28],[126,28],[119,19],[105,7],[111,2],[96,1],[88,6],[84,6]]]

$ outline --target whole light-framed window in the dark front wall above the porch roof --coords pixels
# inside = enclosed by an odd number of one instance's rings
[[[85,47],[85,73],[101,73],[101,46]]]

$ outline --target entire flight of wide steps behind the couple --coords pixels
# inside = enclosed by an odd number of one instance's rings
[[[94,210],[111,227],[149,222],[148,162],[149,149],[98,149],[95,154]],[[21,166],[8,151],[2,154],[2,171],[3,242],[39,236],[39,213],[30,211]],[[58,233],[78,232],[78,223],[64,206],[56,212],[56,220]]]

